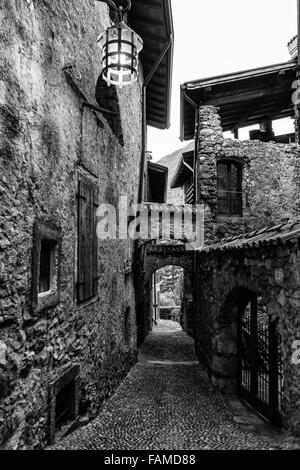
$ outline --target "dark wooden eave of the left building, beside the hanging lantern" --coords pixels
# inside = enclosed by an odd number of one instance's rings
[[[147,124],[158,129],[170,127],[174,29],[171,0],[132,0],[130,25],[141,36],[144,80],[147,82]],[[168,48],[166,50],[166,48]]]

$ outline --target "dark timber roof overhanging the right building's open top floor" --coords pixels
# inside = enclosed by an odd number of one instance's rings
[[[198,106],[216,106],[224,131],[294,115],[296,63],[284,62],[181,85],[181,140],[191,140]]]

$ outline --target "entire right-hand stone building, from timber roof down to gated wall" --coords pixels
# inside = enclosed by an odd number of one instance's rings
[[[182,140],[195,145],[171,187],[204,206],[205,244],[194,253],[193,314],[184,323],[201,363],[224,393],[299,435],[296,59],[182,85]],[[272,121],[282,117],[296,118],[295,134],[275,136]],[[252,124],[260,129],[239,140]]]

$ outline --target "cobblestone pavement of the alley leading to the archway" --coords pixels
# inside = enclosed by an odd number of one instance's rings
[[[278,442],[242,430],[210,385],[179,325],[160,322],[139,362],[99,416],[55,449],[270,449]]]

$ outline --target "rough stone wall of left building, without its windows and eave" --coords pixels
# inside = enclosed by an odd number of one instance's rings
[[[76,193],[84,175],[100,202],[117,204],[123,193],[137,200],[141,86],[117,92],[120,143],[105,116],[83,104],[97,105],[96,39],[110,24],[107,5],[3,0],[0,18],[0,444],[39,448],[49,438],[54,381],[79,366],[79,413],[90,419],[136,359],[129,242],[99,242],[98,296],[77,304]],[[60,302],[40,314],[32,309],[37,219],[62,234]]]

